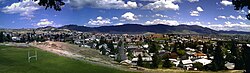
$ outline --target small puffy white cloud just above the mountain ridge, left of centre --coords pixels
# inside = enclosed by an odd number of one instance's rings
[[[110,23],[112,23],[110,21],[110,19],[108,19],[108,18],[103,19],[103,17],[101,17],[101,16],[96,17],[95,20],[90,19],[90,21],[88,22],[88,24],[93,25],[93,26],[104,26],[104,25],[108,25]]]

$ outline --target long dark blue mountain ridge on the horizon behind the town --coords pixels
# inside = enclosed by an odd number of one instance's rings
[[[69,29],[82,32],[104,32],[104,33],[176,33],[176,34],[250,34],[242,31],[215,31],[210,28],[198,25],[178,25],[169,26],[164,24],[158,25],[140,25],[124,24],[117,26],[85,27],[78,25],[66,25],[59,29]]]

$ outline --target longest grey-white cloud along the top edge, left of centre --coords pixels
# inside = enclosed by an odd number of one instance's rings
[[[73,8],[93,7],[104,9],[133,9],[137,8],[136,2],[128,1],[125,3],[123,0],[69,0],[68,3]]]

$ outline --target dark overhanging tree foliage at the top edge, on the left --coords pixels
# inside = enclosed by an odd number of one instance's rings
[[[20,0],[19,0],[20,1]],[[39,1],[39,6],[44,6],[45,9],[48,8],[54,8],[56,11],[61,11],[61,6],[65,5],[65,3],[62,0],[33,0],[33,1]]]

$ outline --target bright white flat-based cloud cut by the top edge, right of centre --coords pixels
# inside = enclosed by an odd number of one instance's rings
[[[158,0],[153,3],[149,3],[143,7],[143,9],[150,10],[179,10],[179,5],[174,2],[179,0]]]

